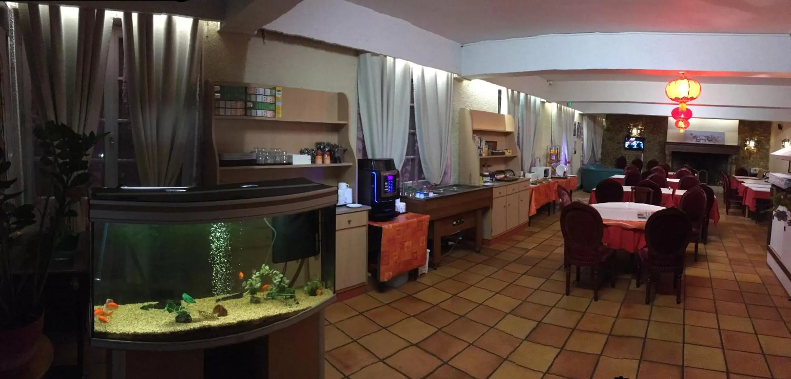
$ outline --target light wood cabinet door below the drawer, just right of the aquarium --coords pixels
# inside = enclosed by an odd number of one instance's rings
[[[368,275],[368,226],[335,231],[335,290],[365,283]]]

